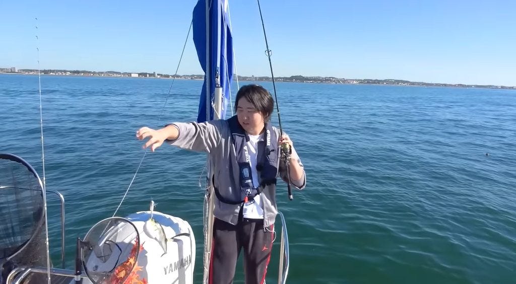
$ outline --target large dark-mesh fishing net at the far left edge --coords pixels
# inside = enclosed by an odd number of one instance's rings
[[[0,154],[0,282],[17,266],[46,266],[47,246],[41,180],[23,159]],[[41,283],[46,275],[24,283]]]

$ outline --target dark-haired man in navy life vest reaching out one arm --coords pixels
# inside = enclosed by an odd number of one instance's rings
[[[228,120],[172,123],[162,129],[140,128],[136,137],[149,138],[143,148],[154,152],[163,142],[209,154],[215,189],[212,259],[209,283],[233,282],[236,261],[244,249],[246,283],[263,283],[274,239],[276,178],[303,189],[303,165],[287,135],[270,125],[274,100],[258,85],[238,91],[236,115]],[[291,155],[285,163],[280,153],[287,144]]]

